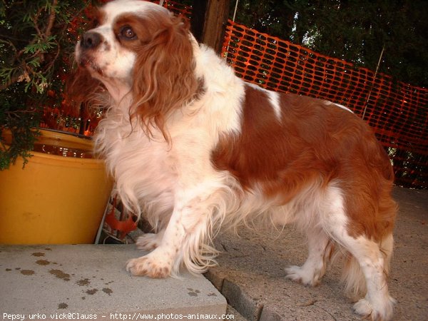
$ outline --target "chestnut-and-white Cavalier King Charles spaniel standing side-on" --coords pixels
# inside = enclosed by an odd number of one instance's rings
[[[352,111],[245,83],[188,23],[148,1],[98,9],[76,61],[72,91],[106,108],[96,152],[123,205],[155,232],[138,239],[151,252],[128,261],[128,271],[203,272],[215,263],[220,225],[294,223],[309,251],[288,278],[317,285],[340,250],[346,290],[363,295],[355,312],[392,318],[394,175]]]

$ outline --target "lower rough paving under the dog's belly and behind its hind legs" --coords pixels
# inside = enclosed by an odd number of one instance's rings
[[[399,203],[389,290],[394,321],[428,320],[428,190],[394,188]],[[361,320],[340,283],[342,263],[330,266],[317,287],[285,279],[285,267],[302,265],[305,237],[291,226],[220,233],[218,267],[205,276],[247,320]]]

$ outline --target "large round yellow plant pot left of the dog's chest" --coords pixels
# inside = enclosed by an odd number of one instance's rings
[[[41,149],[91,152],[90,140],[41,133]],[[0,243],[93,243],[112,188],[103,161],[31,154],[24,168],[18,159],[8,170],[0,170]]]

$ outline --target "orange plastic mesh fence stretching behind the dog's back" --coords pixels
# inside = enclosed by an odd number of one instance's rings
[[[387,148],[396,183],[428,188],[428,89],[317,54],[229,21],[223,56],[245,81],[340,103],[367,121]]]

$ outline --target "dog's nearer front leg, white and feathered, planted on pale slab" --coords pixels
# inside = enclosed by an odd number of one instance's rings
[[[181,263],[192,272],[203,272],[213,265],[215,250],[207,243],[213,222],[225,208],[220,201],[223,193],[206,187],[199,185],[185,195],[176,195],[173,213],[158,247],[148,255],[128,261],[128,271],[133,275],[167,277],[176,275]]]

